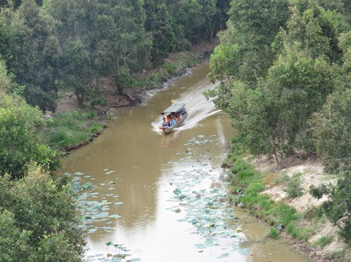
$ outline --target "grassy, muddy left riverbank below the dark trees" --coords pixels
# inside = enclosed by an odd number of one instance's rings
[[[100,95],[103,103],[91,108],[78,108],[78,100],[73,91],[58,93],[56,112],[46,112],[48,119],[44,139],[52,147],[70,154],[70,150],[86,145],[98,136],[112,119],[112,108],[138,106],[147,99],[147,92],[162,89],[164,82],[186,73],[187,69],[208,60],[218,42],[203,42],[193,45],[189,51],[171,53],[169,58],[156,69],[146,69],[136,75],[133,88],[118,95],[116,84],[110,78],[101,80]]]

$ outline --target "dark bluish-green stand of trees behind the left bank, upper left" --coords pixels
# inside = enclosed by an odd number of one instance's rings
[[[54,112],[58,87],[73,90],[80,107],[105,106],[94,94],[101,78],[114,78],[124,95],[146,67],[214,38],[225,27],[229,2],[16,0],[0,6],[0,54],[17,83],[11,90]]]

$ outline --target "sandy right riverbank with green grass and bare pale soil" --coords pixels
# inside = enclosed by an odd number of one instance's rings
[[[317,157],[295,154],[278,170],[273,156],[253,158],[233,144],[224,165],[233,172],[233,202],[272,226],[269,237],[286,239],[312,261],[350,261],[349,246],[319,208],[326,198],[317,200],[308,191],[310,185],[335,182]]]

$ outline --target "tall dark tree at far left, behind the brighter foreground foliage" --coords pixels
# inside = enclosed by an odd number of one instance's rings
[[[24,0],[12,21],[12,56],[8,69],[14,80],[25,86],[28,104],[55,110],[58,42],[51,19],[39,12],[34,0]]]

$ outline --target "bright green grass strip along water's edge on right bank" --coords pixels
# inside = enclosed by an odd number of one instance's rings
[[[267,194],[262,193],[266,180],[270,179],[269,175],[253,168],[245,158],[242,145],[236,138],[233,139],[229,162],[233,165],[230,178],[234,193],[232,200],[235,204],[250,209],[259,219],[273,226],[268,233],[270,237],[278,238],[281,230],[299,240],[307,240],[310,237],[308,230],[299,226],[304,214],[297,213],[288,204],[274,202]]]

